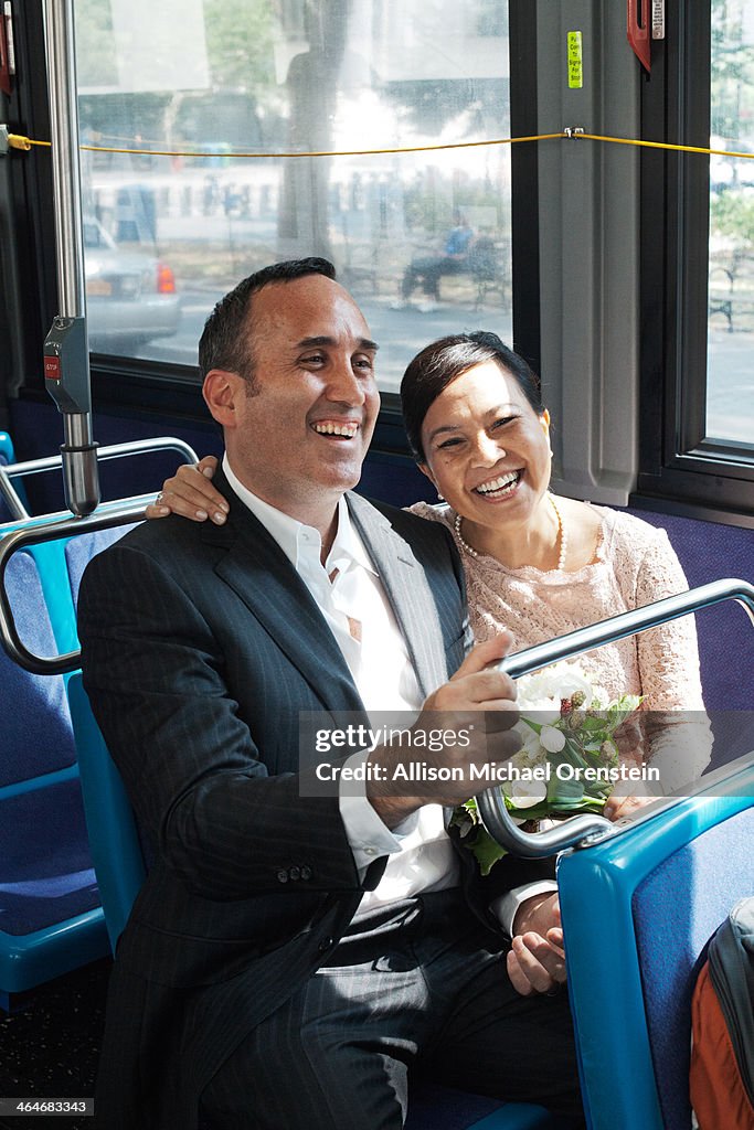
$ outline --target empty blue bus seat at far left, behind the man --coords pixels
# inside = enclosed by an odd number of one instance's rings
[[[53,654],[55,633],[31,554],[11,557],[6,588],[23,641]],[[104,956],[107,935],[64,680],[32,675],[0,650],[0,1007],[9,1010],[11,994]]]

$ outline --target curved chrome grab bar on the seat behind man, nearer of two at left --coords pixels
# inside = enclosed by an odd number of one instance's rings
[[[3,647],[19,667],[34,675],[62,675],[73,671],[79,666],[80,651],[69,651],[64,655],[35,655],[21,642],[16,629],[8,592],[6,590],[6,568],[17,550],[25,546],[40,545],[43,541],[55,541],[58,538],[75,536],[95,530],[107,530],[114,525],[125,525],[144,518],[145,508],[154,499],[154,495],[140,495],[135,498],[121,498],[114,503],[102,503],[95,513],[85,518],[64,518],[62,521],[32,519],[33,524],[24,525],[14,533],[0,539],[0,641]]]

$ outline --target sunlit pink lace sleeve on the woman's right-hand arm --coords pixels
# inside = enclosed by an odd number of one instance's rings
[[[652,531],[638,571],[636,607],[687,589],[667,533]],[[701,776],[712,749],[694,618],[683,616],[642,632],[636,643],[648,760],[660,770],[664,789],[670,792]]]

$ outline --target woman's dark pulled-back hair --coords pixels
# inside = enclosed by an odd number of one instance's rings
[[[503,345],[496,333],[475,330],[473,333],[453,333],[440,338],[409,362],[400,382],[404,426],[419,463],[426,462],[422,446],[422,425],[430,408],[451,381],[487,360],[494,362],[502,372],[510,373],[518,381],[537,416],[541,416],[544,406],[539,379],[523,357]]]

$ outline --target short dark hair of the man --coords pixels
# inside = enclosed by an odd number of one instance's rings
[[[215,306],[199,339],[199,376],[203,381],[213,368],[239,373],[253,384],[254,358],[249,312],[257,290],[271,282],[293,282],[307,275],[335,279],[335,267],[327,259],[289,259],[254,271]]]

